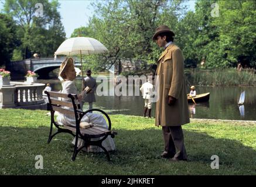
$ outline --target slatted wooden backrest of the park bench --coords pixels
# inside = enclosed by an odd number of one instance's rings
[[[57,111],[74,119],[80,119],[82,110],[76,94],[48,91],[45,93],[48,97],[52,116]]]

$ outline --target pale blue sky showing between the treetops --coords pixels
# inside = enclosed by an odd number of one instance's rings
[[[100,1],[100,0],[98,0]],[[101,0],[104,1],[104,0]],[[143,1],[143,0],[142,0]],[[39,0],[40,2],[40,0]],[[81,26],[87,26],[90,16],[93,15],[93,7],[90,5],[90,0],[59,0],[60,3],[60,16],[66,32],[66,37],[69,38],[74,29]],[[4,1],[0,2],[0,9],[2,9]],[[187,5],[191,11],[194,11],[195,1],[188,1]]]

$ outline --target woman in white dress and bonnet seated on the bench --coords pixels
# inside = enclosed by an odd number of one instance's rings
[[[76,71],[74,69],[74,60],[73,58],[66,58],[66,60],[63,61],[63,63],[60,65],[60,77],[63,78],[62,82],[62,93],[73,93],[78,96],[78,100],[80,101],[83,99],[83,95],[78,93],[76,85],[74,84],[74,79],[76,78]],[[70,116],[63,115],[62,113],[58,113],[57,116],[57,122],[60,124],[66,124],[69,126],[76,126],[76,120],[74,118],[71,118]],[[90,122],[97,124],[98,126],[104,127],[105,129],[108,129],[108,124],[105,121],[103,115],[99,115],[96,113],[86,113],[86,115],[83,116],[81,119],[81,122]],[[75,138],[74,138],[75,140]],[[75,141],[72,141],[74,144]],[[91,140],[98,140],[98,138],[91,138]],[[77,146],[83,146],[84,141],[78,138],[78,144]],[[102,143],[103,147],[106,148],[107,151],[115,150],[115,143],[114,140],[108,136]],[[90,146],[90,147],[84,147],[82,150],[87,152],[102,152],[103,150],[98,146]]]

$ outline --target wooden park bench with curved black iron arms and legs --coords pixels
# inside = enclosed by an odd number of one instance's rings
[[[108,161],[110,161],[110,154],[108,151],[103,147],[102,142],[107,138],[108,136],[111,136],[112,138],[115,137],[117,134],[115,131],[111,131],[111,120],[110,117],[105,113],[103,110],[100,109],[90,109],[83,112],[81,110],[81,106],[78,102],[78,97],[76,94],[67,94],[67,93],[60,93],[60,92],[47,92],[45,91],[47,97],[48,97],[48,105],[50,109],[51,114],[51,123],[50,123],[50,134],[48,138],[48,144],[52,140],[52,138],[58,134],[58,133],[69,133],[72,136],[76,137],[75,145],[74,145],[74,153],[72,160],[74,161],[76,159],[77,153],[83,148],[88,146],[98,146],[104,150],[104,153],[107,154]],[[61,101],[58,98],[61,98]],[[69,99],[69,100],[68,100]],[[67,102],[70,101],[70,102]],[[72,117],[73,119],[76,119],[76,127],[74,126],[68,126],[66,124],[59,124],[54,120],[54,112],[62,113],[66,116]],[[97,126],[97,124],[87,124],[87,129],[80,128],[80,123],[86,123],[81,122],[81,119],[86,113],[98,111],[103,113],[105,117],[107,117],[108,120],[108,129],[104,129],[103,127]],[[53,124],[57,128],[57,132],[52,135],[53,131]],[[78,138],[81,138],[84,140],[84,146],[77,147]],[[99,140],[91,140],[91,138],[98,138]]]

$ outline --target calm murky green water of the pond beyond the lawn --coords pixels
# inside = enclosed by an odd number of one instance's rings
[[[58,80],[42,80],[38,82],[50,83],[52,91],[59,91],[62,85]],[[81,88],[81,81],[76,80],[77,88]],[[109,88],[111,89],[111,88]],[[245,102],[238,106],[241,92],[245,91]],[[187,89],[189,92],[189,89]],[[256,88],[255,87],[196,87],[197,94],[210,92],[209,102],[201,102],[196,105],[189,103],[191,118],[199,119],[227,119],[227,120],[256,120]],[[100,108],[110,114],[124,114],[142,116],[144,100],[142,96],[98,96],[93,108]],[[84,109],[88,109],[85,104]],[[155,115],[155,103],[152,108],[152,116]]]

